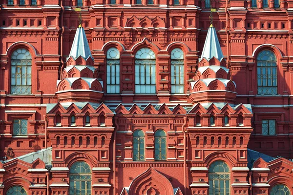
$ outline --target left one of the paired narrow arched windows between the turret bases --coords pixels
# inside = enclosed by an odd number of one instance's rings
[[[145,134],[142,130],[133,132],[133,160],[145,160]]]

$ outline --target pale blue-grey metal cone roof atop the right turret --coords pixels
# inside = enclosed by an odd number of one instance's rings
[[[222,61],[222,59],[224,59],[220,42],[217,37],[216,29],[212,25],[210,25],[208,30],[208,35],[205,41],[203,53],[199,61],[201,61],[204,58],[209,61],[213,57],[215,57],[219,61]]]

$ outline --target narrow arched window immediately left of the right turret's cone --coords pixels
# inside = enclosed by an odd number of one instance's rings
[[[184,54],[178,48],[171,51],[171,93],[184,94]]]

